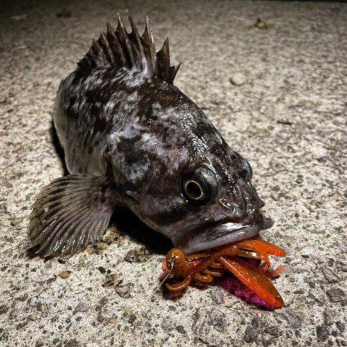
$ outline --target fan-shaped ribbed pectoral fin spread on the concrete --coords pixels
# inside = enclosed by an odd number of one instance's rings
[[[71,175],[43,187],[29,215],[28,237],[37,253],[73,255],[95,244],[117,205],[112,177]]]

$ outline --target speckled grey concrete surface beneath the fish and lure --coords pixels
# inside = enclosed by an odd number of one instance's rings
[[[0,346],[346,346],[347,4],[11,3],[0,3]],[[168,298],[164,255],[124,232],[129,216],[65,264],[28,251],[34,196],[64,174],[51,124],[60,80],[126,9],[141,28],[149,15],[158,48],[169,35],[176,85],[251,162],[276,222],[264,235],[287,251],[273,259],[286,266],[273,281],[282,309],[220,285]],[[257,17],[273,27],[248,30]]]

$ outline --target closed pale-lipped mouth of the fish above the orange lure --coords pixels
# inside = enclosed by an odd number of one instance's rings
[[[248,239],[271,226],[273,221],[260,213],[257,216],[257,223],[254,223],[253,217],[248,216],[242,219],[224,219],[218,223],[201,223],[198,226],[188,227],[177,232],[172,237],[172,242],[176,248],[180,248],[188,255]]]

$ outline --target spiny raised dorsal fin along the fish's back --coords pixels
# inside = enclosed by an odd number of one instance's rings
[[[133,18],[128,15],[131,33],[128,34],[123,19],[118,14],[117,29],[106,23],[107,33],[101,31],[99,39],[93,40],[88,53],[78,62],[79,70],[91,69],[135,69],[160,81],[174,83],[181,62],[170,67],[169,40],[165,37],[162,49],[155,53],[155,45],[149,18],[142,37],[139,36]]]

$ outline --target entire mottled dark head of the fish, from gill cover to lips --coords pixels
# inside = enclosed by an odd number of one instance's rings
[[[136,182],[126,188],[128,207],[185,254],[271,228],[273,222],[262,213],[264,202],[251,183],[251,165],[232,151],[203,112],[192,101],[180,108],[154,109],[152,105],[151,112],[162,114],[150,127],[126,132],[137,138],[126,148],[128,160],[114,158],[115,166],[121,165],[116,174],[131,176],[122,186]]]

